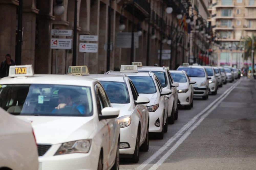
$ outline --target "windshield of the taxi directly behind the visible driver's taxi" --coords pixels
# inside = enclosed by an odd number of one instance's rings
[[[111,103],[130,103],[130,97],[126,83],[100,81]]]

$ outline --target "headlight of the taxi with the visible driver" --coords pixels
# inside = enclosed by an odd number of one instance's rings
[[[88,153],[91,147],[92,139],[76,140],[62,143],[54,155],[68,153]]]

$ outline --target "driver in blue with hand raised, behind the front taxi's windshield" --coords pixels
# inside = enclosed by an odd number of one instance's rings
[[[81,114],[85,114],[85,108],[82,104],[76,104],[74,99],[74,93],[70,89],[60,89],[58,91],[58,106],[52,111],[52,113],[57,110],[63,109],[66,106],[75,107]]]

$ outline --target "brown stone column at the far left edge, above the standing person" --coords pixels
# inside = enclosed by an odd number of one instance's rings
[[[18,5],[17,0],[0,1],[0,62],[5,60],[7,53],[15,60]]]

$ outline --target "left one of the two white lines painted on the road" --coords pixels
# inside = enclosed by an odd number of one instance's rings
[[[238,81],[240,82],[240,80]],[[237,83],[238,83],[237,82]],[[199,116],[204,114],[208,109],[210,109],[216,102],[218,102],[224,95],[228,93],[236,84],[233,84],[229,89],[227,89],[220,97],[215,99],[209,106],[207,106],[204,110],[202,110],[200,113],[198,113],[196,116],[194,116],[186,125],[184,125],[173,137],[171,137],[165,144],[162,146],[158,151],[156,151],[150,158],[148,158],[146,161],[144,161],[140,166],[135,168],[135,170],[142,170],[145,168],[151,161],[156,159],[163,151],[168,149],[168,147],[176,140],[178,139],[191,125],[193,125]]]

